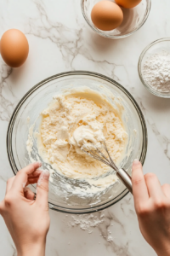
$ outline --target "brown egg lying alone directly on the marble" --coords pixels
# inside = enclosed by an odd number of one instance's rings
[[[0,53],[10,67],[20,67],[28,56],[29,44],[25,34],[18,29],[4,32],[0,41]]]

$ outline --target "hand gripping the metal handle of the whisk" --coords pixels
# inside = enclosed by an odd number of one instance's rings
[[[161,186],[153,173],[143,175],[142,165],[133,162],[133,198],[144,239],[158,256],[170,255],[170,185]]]

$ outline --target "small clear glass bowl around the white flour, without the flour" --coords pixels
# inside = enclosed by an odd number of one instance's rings
[[[139,78],[140,78],[142,84],[144,84],[144,87],[147,90],[149,90],[150,93],[152,93],[153,95],[158,96],[158,97],[163,97],[163,98],[170,98],[170,91],[169,92],[161,92],[161,91],[156,90],[154,87],[152,87],[150,84],[148,84],[144,80],[144,76],[143,76],[143,72],[142,72],[144,63],[148,59],[148,57],[150,55],[157,54],[163,50],[170,52],[170,38],[158,39],[144,48],[143,52],[139,56],[139,64],[138,64]]]

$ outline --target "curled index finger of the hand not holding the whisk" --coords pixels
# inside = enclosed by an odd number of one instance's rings
[[[28,175],[35,172],[40,166],[42,166],[41,163],[36,162],[17,172],[12,189],[23,194],[23,188],[26,186]]]

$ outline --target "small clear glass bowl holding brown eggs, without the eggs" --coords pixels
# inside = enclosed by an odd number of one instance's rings
[[[144,22],[147,20],[150,14],[151,0],[142,0],[139,5],[132,9],[122,8],[124,19],[121,26],[111,31],[99,30],[91,20],[91,11],[95,3],[100,2],[99,0],[82,0],[82,15],[87,21],[88,25],[104,38],[119,39],[127,38],[134,32],[138,31]]]

